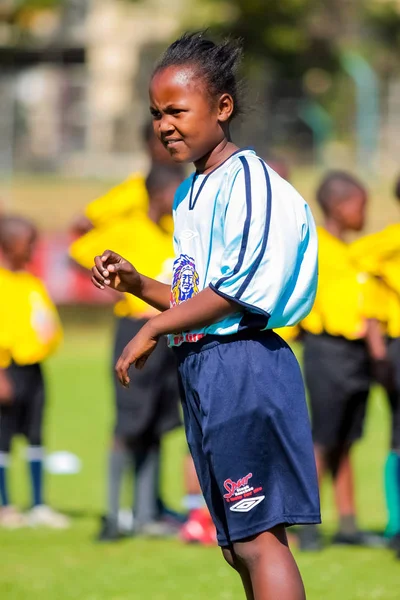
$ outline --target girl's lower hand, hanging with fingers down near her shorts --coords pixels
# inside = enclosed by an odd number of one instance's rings
[[[158,337],[151,332],[150,323],[151,321],[148,321],[125,346],[115,365],[117,377],[124,387],[129,387],[129,367],[134,364],[136,369],[143,369],[147,359],[158,344]]]

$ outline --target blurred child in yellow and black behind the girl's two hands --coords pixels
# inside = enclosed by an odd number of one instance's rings
[[[154,136],[154,133],[153,133]],[[156,140],[157,141],[157,140]],[[159,143],[159,142],[158,142]],[[92,258],[106,246],[118,247],[121,252],[140,263],[155,278],[169,281],[172,268],[172,239],[161,224],[168,227],[176,188],[182,181],[182,170],[175,165],[153,164],[145,181],[145,188],[135,199],[133,190],[120,192],[128,198],[119,204],[131,210],[124,218],[114,215],[114,195],[102,198],[109,222],[98,226],[79,238],[70,249],[71,257],[89,268]],[[99,212],[99,203],[95,201]],[[136,208],[135,208],[136,207]],[[93,212],[89,205],[88,214]],[[117,316],[114,359],[126,343],[156,311],[145,302],[125,295],[115,306]],[[114,383],[115,378],[113,378]],[[135,531],[154,535],[170,535],[171,527],[159,520],[160,441],[167,431],[180,425],[179,393],[176,363],[167,344],[159,345],[150,368],[135,379],[129,390],[114,387],[116,423],[114,440],[109,456],[107,515],[102,519],[100,541],[120,537],[118,513],[120,488],[129,464],[135,465]]]

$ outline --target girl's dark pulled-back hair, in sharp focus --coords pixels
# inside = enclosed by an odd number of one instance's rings
[[[215,44],[204,37],[205,33],[184,33],[164,52],[153,76],[167,67],[193,65],[204,78],[212,99],[223,93],[232,96],[232,118],[236,117],[242,112],[240,84],[237,79],[243,56],[241,40],[225,39],[220,44]]]

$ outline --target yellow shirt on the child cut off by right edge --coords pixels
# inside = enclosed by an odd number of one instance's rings
[[[363,271],[376,277],[376,318],[390,337],[400,337],[400,223],[357,240],[350,253]]]

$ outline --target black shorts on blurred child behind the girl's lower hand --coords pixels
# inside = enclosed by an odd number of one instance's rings
[[[144,319],[118,319],[113,369],[126,344],[146,323]],[[113,371],[114,372],[114,371]],[[181,425],[178,372],[175,356],[161,338],[144,369],[131,369],[129,388],[122,387],[114,372],[115,435],[132,442],[158,440]]]

